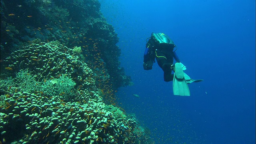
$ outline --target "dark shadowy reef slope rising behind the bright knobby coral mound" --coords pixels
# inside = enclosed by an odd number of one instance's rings
[[[81,47],[80,58],[86,58],[97,75],[108,73],[110,78],[103,81],[111,87],[96,84],[104,91],[112,90],[109,95],[131,84],[118,60],[117,34],[102,16],[98,0],[1,0],[0,13],[1,60],[35,38],[58,40],[68,47]],[[100,67],[95,68],[96,64]]]

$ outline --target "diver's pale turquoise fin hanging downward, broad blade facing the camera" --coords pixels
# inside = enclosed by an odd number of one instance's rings
[[[190,96],[188,84],[185,80],[185,73],[182,70],[180,63],[176,62],[174,66],[174,77],[173,77],[173,94],[178,96]]]

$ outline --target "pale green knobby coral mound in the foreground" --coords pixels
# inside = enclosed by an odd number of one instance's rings
[[[34,40],[1,63],[0,139],[7,143],[148,144],[136,118],[104,104],[94,73],[58,41]],[[47,89],[48,88],[48,89]]]

